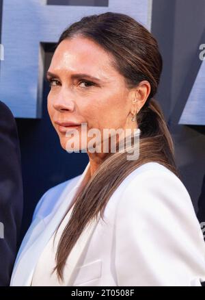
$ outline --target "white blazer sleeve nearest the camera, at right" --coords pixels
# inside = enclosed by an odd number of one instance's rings
[[[146,171],[115,215],[118,286],[201,286],[205,244],[187,189],[174,173]]]

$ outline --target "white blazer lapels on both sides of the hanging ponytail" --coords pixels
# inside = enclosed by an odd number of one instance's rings
[[[57,208],[57,211],[51,212],[48,216],[43,218],[42,220],[34,220],[29,230],[23,240],[21,249],[19,250],[18,256],[16,258],[16,262],[14,265],[14,270],[12,273],[11,286],[30,286],[31,280],[33,276],[33,272],[35,270],[36,264],[38,262],[38,258],[42,253],[46,243],[49,242],[49,239],[54,234],[57,226],[59,225],[61,219],[64,217],[66,210],[68,209],[72,199],[75,195],[77,188],[80,186],[83,178],[85,177],[88,168],[90,167],[90,162],[87,164],[85,170],[81,174],[81,177],[77,181],[77,184],[70,187],[70,184],[64,188],[63,192],[58,199],[60,205]],[[72,208],[70,208],[68,214],[71,215]],[[45,227],[46,223],[46,227]],[[68,256],[70,268],[66,272],[66,282],[72,277],[72,273],[74,271],[74,267],[76,266],[83,249],[87,241],[89,240],[94,228],[96,227],[98,221],[96,218],[94,221],[88,223],[88,225],[83,230],[79,240],[77,240],[76,244],[72,248],[70,255]]]

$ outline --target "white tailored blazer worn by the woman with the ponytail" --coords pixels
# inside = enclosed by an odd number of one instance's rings
[[[40,254],[89,166],[40,199],[11,286],[31,285]],[[148,162],[129,174],[109,199],[104,220],[87,225],[74,245],[65,267],[67,286],[201,286],[205,281],[200,223],[187,189],[165,166]]]

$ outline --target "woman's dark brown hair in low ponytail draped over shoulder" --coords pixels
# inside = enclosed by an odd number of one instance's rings
[[[103,212],[113,192],[135,168],[146,162],[158,162],[180,177],[174,162],[174,145],[159,103],[153,99],[159,85],[163,61],[158,44],[150,32],[126,14],[106,12],[85,16],[60,36],[62,40],[82,36],[89,38],[111,55],[113,66],[125,78],[128,88],[142,80],[150,82],[150,95],[139,113],[141,130],[139,159],[127,160],[127,153],[113,153],[102,162],[75,199],[70,220],[59,240],[54,271],[63,279],[63,269],[72,247],[93,218]],[[137,190],[136,190],[137,201]]]

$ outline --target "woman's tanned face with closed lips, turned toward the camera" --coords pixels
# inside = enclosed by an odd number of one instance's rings
[[[74,127],[58,123],[87,123],[84,132],[81,126],[75,128],[79,133],[79,138],[72,136],[75,145],[79,139],[75,151],[85,146],[87,149],[85,140],[94,138],[88,134],[90,129],[98,129],[103,136],[103,129],[137,127],[137,123],[131,122],[131,98],[124,77],[113,68],[104,49],[91,40],[82,37],[63,40],[55,50],[47,77],[51,82],[49,116],[61,146],[67,151],[70,137],[66,130],[71,133]]]

